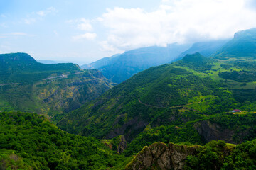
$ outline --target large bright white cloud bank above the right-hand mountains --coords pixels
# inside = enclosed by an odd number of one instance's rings
[[[238,30],[256,26],[252,0],[162,0],[155,11],[142,8],[107,9],[97,18],[107,30],[104,50],[129,50],[171,42],[231,38]]]

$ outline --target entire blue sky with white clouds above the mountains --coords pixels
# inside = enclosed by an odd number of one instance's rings
[[[255,0],[0,0],[0,53],[87,64],[139,47],[233,38]]]

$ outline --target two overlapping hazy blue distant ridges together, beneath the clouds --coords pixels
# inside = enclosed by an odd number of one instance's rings
[[[81,68],[99,69],[107,79],[119,84],[149,67],[181,60],[186,54],[201,52],[202,55],[208,57],[226,42],[228,40],[197,42],[192,46],[174,43],[167,45],[167,47],[144,47],[112,57],[105,57],[91,64],[82,65]]]

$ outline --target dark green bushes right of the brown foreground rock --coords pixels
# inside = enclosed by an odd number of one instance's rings
[[[184,169],[256,169],[256,140],[241,145],[212,141],[186,158]]]

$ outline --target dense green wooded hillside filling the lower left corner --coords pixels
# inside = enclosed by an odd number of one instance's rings
[[[0,113],[0,167],[4,169],[106,169],[124,160],[99,140],[70,135],[43,116]]]

